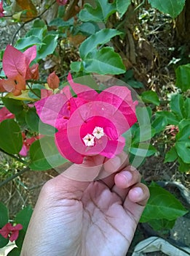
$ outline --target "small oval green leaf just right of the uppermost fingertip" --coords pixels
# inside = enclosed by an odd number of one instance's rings
[[[150,157],[157,152],[149,143],[139,143],[130,147],[130,153],[138,157]]]

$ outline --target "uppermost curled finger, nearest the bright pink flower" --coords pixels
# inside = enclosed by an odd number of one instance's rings
[[[108,159],[108,161],[103,164],[103,173],[101,173],[99,178],[104,184],[106,184],[107,187],[111,189],[111,187],[114,186],[114,176],[116,172],[119,172],[123,168],[127,167],[127,165],[129,165],[127,154],[122,152],[116,157]]]

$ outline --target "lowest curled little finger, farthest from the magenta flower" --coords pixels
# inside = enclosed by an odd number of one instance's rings
[[[143,209],[149,200],[149,189],[145,184],[138,183],[135,184],[132,189],[130,189],[126,199],[124,200],[123,206],[127,213],[138,222]]]

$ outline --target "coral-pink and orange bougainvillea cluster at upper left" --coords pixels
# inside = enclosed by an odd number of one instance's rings
[[[4,50],[3,69],[8,79],[0,80],[1,87],[5,91],[20,95],[25,90],[25,80],[39,78],[38,64],[29,67],[31,61],[36,58],[36,45],[28,48],[23,53],[8,45]]]

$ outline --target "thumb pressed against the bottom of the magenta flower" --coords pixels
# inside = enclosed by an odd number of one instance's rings
[[[55,199],[80,200],[90,181],[94,181],[103,167],[103,156],[85,157],[80,165],[73,164],[64,170],[59,168],[60,175],[52,178],[44,185],[43,189],[47,195]],[[43,192],[43,191],[42,191]]]

